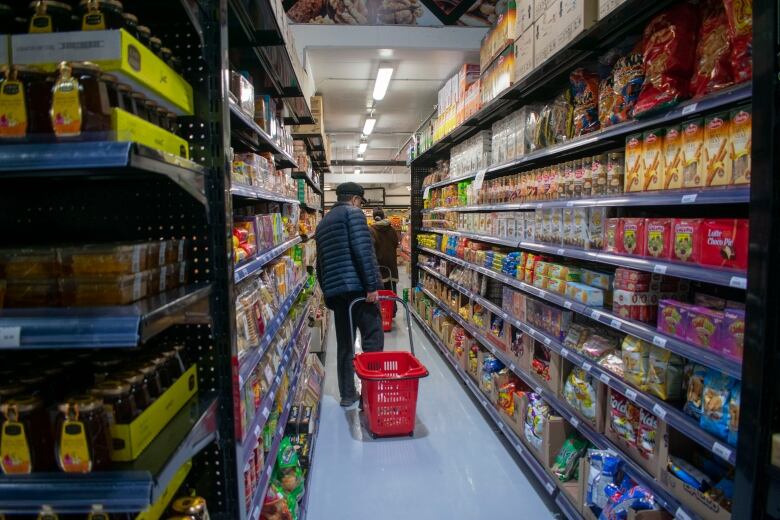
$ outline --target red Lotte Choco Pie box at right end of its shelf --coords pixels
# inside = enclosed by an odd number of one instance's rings
[[[708,219],[702,229],[701,264],[747,269],[747,219]]]

